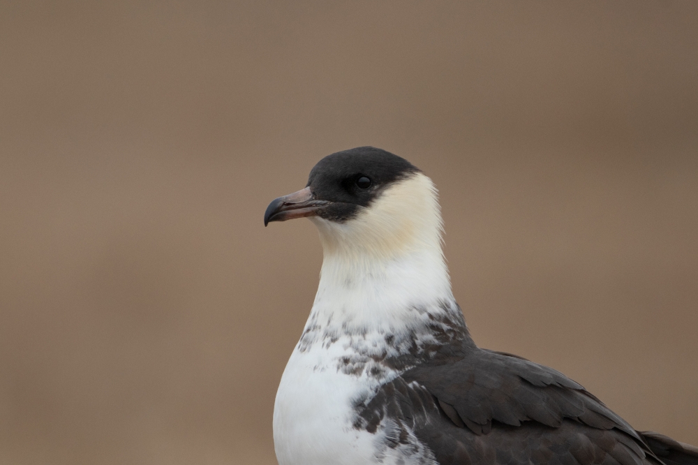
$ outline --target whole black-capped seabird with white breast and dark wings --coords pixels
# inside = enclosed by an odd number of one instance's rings
[[[264,221],[301,217],[323,262],[276,393],[279,465],[698,465],[698,448],[636,431],[560,372],[475,345],[436,187],[404,158],[322,158]]]

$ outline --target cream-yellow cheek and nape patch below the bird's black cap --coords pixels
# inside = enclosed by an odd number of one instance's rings
[[[441,254],[438,193],[429,177],[415,173],[380,193],[345,223],[313,219],[325,258],[358,264],[390,260],[411,251]]]

